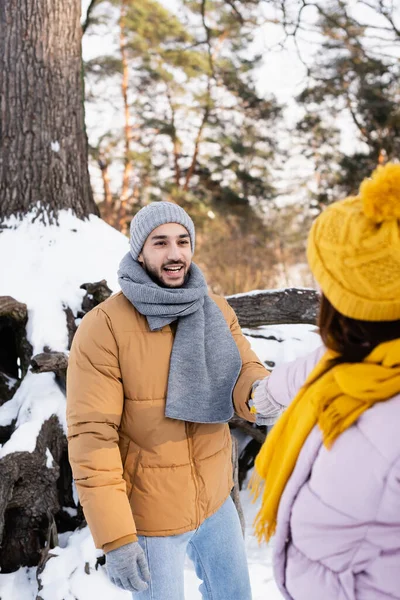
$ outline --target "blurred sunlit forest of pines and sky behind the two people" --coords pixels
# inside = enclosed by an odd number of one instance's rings
[[[400,6],[84,0],[83,30],[102,218],[172,200],[213,291],[312,285],[311,220],[400,154]]]

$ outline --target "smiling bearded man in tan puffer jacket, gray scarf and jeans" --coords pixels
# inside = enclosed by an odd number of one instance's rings
[[[195,230],[170,202],[132,220],[121,292],[88,313],[68,368],[70,461],[110,579],[142,600],[183,600],[186,554],[208,600],[250,600],[230,498],[236,412],[267,371],[192,262]]]

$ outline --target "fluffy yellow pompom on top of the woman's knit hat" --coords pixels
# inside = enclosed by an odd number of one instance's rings
[[[360,198],[365,216],[375,223],[400,219],[400,164],[375,169],[371,179],[362,182]]]

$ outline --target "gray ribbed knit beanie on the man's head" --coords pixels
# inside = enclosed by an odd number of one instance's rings
[[[152,202],[144,206],[131,221],[130,250],[134,260],[138,259],[150,233],[165,223],[179,223],[187,229],[190,245],[194,252],[194,223],[186,211],[173,202]]]

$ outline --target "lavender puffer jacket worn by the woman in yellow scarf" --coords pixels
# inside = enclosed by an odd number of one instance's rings
[[[323,351],[274,370],[276,402],[289,404]],[[312,430],[281,498],[274,571],[287,600],[400,599],[400,395],[330,451]]]

